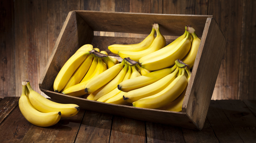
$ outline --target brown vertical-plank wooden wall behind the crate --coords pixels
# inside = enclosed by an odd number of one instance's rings
[[[20,96],[24,79],[40,92],[68,12],[97,10],[213,15],[227,44],[212,99],[256,99],[255,8],[255,0],[0,0],[0,98]]]

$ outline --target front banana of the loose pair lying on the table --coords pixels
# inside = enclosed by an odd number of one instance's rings
[[[33,125],[49,127],[56,124],[61,118],[60,111],[42,113],[36,110],[26,95],[26,82],[22,82],[22,94],[19,99],[19,108],[22,115]]]

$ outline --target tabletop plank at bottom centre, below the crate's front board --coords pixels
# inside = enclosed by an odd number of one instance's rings
[[[143,121],[113,117],[110,143],[115,142],[146,142],[145,123]]]

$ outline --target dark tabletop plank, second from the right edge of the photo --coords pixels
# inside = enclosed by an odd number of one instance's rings
[[[256,140],[256,117],[241,100],[218,100],[217,103],[243,142]]]

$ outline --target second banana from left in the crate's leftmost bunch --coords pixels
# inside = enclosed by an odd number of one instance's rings
[[[93,56],[88,55],[86,59],[81,63],[81,65],[75,70],[75,72],[70,77],[69,81],[67,82],[66,86],[62,89],[62,91],[67,89],[68,87],[71,87],[80,83],[80,81],[83,79],[86,72],[89,70],[90,65],[92,64],[92,61],[93,61]]]

